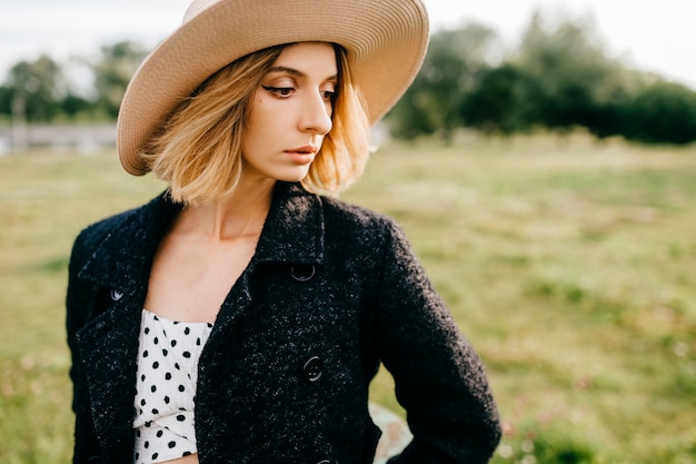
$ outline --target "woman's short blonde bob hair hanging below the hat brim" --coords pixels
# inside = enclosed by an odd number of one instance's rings
[[[220,69],[182,101],[145,145],[140,156],[149,170],[169,184],[175,201],[195,205],[235,191],[242,176],[251,98],[285,47],[250,53]],[[335,195],[362,175],[370,131],[346,51],[334,48],[339,83],[332,128],[301,184],[309,191]]]

